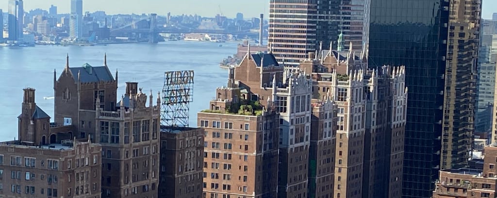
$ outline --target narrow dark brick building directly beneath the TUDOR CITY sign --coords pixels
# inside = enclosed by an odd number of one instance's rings
[[[204,129],[161,127],[159,196],[202,198]]]

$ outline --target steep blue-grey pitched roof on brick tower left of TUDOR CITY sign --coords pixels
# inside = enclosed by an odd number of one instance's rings
[[[69,68],[69,70],[73,73],[73,78],[76,82],[78,82],[78,72],[80,73],[82,83],[114,81],[114,77],[112,77],[106,66],[93,67],[85,63],[83,67]]]

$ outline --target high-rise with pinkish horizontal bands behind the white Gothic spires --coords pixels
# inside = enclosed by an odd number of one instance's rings
[[[336,48],[338,34],[343,32],[345,46],[352,42],[353,50],[360,52],[367,40],[363,38],[363,29],[368,29],[364,25],[367,7],[368,0],[344,4],[340,0],[270,0],[268,46],[278,63],[285,59],[286,65],[296,66],[309,52]]]

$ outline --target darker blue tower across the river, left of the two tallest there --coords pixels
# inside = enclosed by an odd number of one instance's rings
[[[24,25],[24,9],[22,0],[8,1],[8,40],[17,41],[22,38]]]

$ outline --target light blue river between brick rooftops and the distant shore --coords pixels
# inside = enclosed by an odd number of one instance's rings
[[[112,44],[106,46],[36,46],[0,47],[0,141],[17,137],[17,116],[21,113],[24,88],[36,89],[36,103],[53,119],[54,69],[57,78],[66,65],[82,67],[88,63],[107,66],[114,75],[118,70],[118,98],[124,94],[125,82],[138,82],[143,92],[154,100],[164,86],[164,72],[194,70],[193,103],[190,126],[196,126],[197,112],[208,108],[217,87],[226,86],[227,70],[219,62],[236,53],[237,43],[166,41],[153,44]]]

